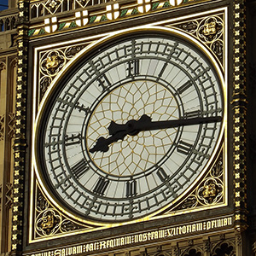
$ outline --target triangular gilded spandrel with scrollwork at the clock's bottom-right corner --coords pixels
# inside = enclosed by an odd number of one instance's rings
[[[196,189],[173,210],[194,209],[196,207],[213,206],[224,201],[223,153],[212,166],[207,176]]]

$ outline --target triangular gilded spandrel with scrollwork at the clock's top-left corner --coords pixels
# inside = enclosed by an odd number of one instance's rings
[[[85,44],[86,45],[86,44]],[[65,48],[51,49],[40,53],[39,86],[41,100],[49,84],[61,69],[70,61],[74,55],[84,49],[84,44],[72,45]]]

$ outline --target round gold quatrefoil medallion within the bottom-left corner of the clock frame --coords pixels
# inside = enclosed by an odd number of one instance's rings
[[[36,232],[39,236],[54,235],[60,229],[61,215],[49,208],[38,215],[36,220]]]

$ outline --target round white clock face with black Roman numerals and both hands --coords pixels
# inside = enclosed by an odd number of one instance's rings
[[[52,195],[97,223],[166,210],[207,171],[222,137],[212,63],[182,38],[141,32],[98,46],[77,66],[51,90],[37,124],[38,170]]]

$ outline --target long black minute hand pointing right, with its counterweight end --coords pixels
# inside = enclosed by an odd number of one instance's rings
[[[197,117],[193,119],[177,119],[177,120],[166,120],[166,121],[155,121],[152,122],[148,115],[143,114],[143,116],[138,120],[130,120],[124,125],[116,124],[111,121],[108,126],[109,135],[115,135],[119,131],[127,131],[129,135],[137,135],[139,131],[153,131],[161,130],[166,128],[175,128],[179,126],[187,125],[200,125],[207,123],[220,122],[222,117],[212,116],[212,117]]]

